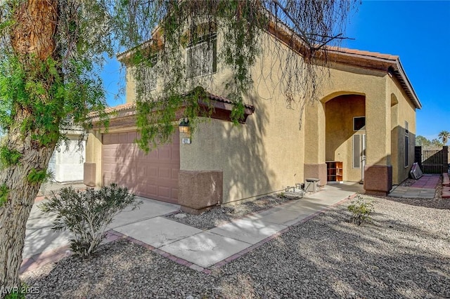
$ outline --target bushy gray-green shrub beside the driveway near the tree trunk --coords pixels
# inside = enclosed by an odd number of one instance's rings
[[[115,215],[127,206],[134,209],[141,203],[127,188],[111,184],[101,190],[88,188],[84,192],[66,187],[60,190],[59,196],[52,192],[50,199],[39,208],[44,213],[56,213],[52,230],[72,232],[70,248],[75,254],[86,258],[101,244],[105,229]]]

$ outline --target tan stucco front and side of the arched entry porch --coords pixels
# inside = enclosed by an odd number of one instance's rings
[[[416,111],[397,80],[385,72],[345,65],[333,65],[330,75],[330,83],[323,88],[322,102],[342,94],[366,97],[366,165],[392,165],[394,184],[407,178],[414,159]],[[319,114],[320,117],[323,117],[323,114]],[[409,123],[409,161],[411,161],[406,168],[404,167],[405,121]],[[348,154],[351,153],[352,147],[349,147]],[[351,160],[349,162],[351,163]]]

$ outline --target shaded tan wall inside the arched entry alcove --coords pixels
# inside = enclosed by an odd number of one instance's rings
[[[342,161],[342,178],[349,182],[361,180],[361,168],[353,168],[353,118],[365,117],[364,95],[341,95],[326,102],[326,160]],[[361,137],[362,138],[362,137]]]

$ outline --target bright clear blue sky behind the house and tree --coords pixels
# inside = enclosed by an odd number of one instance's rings
[[[432,139],[450,131],[450,1],[363,1],[346,35],[354,40],[344,47],[399,55],[423,105],[416,135]],[[117,61],[105,66],[110,106],[124,102],[124,95],[115,98],[119,75]]]

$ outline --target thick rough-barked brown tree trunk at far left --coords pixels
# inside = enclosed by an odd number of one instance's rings
[[[34,120],[34,105],[38,102],[50,102],[51,76],[39,77],[36,61],[46,63],[49,58],[58,61],[56,51],[56,32],[58,26],[57,0],[25,0],[18,2],[13,11],[13,28],[10,41],[13,53],[19,59],[27,79],[39,81],[45,88],[39,98],[32,98],[31,103],[18,101],[14,106],[13,124],[8,128],[6,142],[8,150],[20,153],[17,164],[1,169],[0,185],[8,188],[7,201],[0,206],[0,290],[20,286],[19,271],[22,263],[25,228],[34,199],[37,197],[41,182],[32,182],[30,172],[46,170],[56,142],[41,144],[35,135],[55,133],[44,128],[33,127],[23,132],[25,120]],[[34,75],[33,75],[34,74]],[[34,76],[34,77],[33,77]],[[61,107],[62,109],[62,107]],[[58,124],[59,119],[55,120]],[[57,130],[57,129],[56,129]],[[58,134],[58,132],[56,132]],[[3,297],[0,292],[0,297]]]

